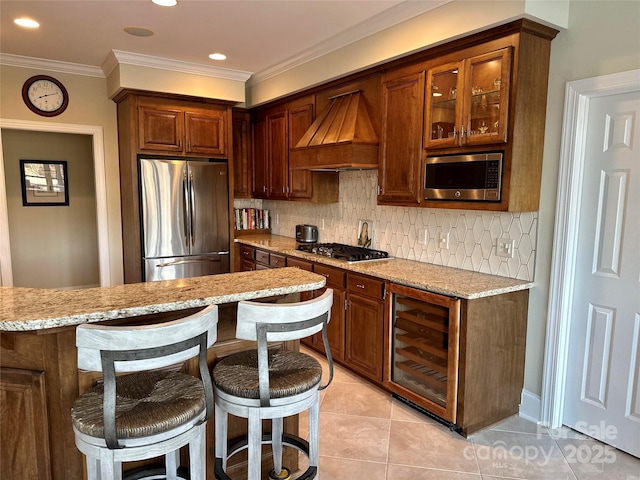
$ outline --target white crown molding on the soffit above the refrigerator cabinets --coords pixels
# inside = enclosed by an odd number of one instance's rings
[[[206,77],[221,78],[224,80],[235,80],[238,82],[246,82],[249,77],[253,75],[253,72],[245,72],[243,70],[212,67],[199,63],[183,62],[181,60],[170,60],[167,58],[153,57],[151,55],[123,52],[121,50],[111,50],[107,59],[102,63],[102,72],[105,76],[108,76],[116,66],[121,64],[157,68],[160,70],[202,75]]]

